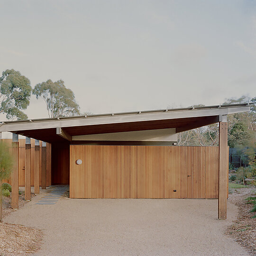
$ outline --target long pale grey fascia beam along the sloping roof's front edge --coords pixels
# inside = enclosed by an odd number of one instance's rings
[[[21,131],[21,130],[33,130],[33,129],[47,129],[47,128],[65,128],[75,126],[89,126],[89,125],[101,125],[101,124],[115,124],[115,123],[127,123],[127,122],[140,122],[140,121],[154,121],[154,120],[166,120],[166,119],[182,119],[193,117],[207,117],[228,115],[239,112],[250,111],[250,106],[229,107],[229,108],[215,108],[215,109],[202,109],[202,110],[177,110],[166,111],[156,113],[141,113],[141,114],[128,114],[128,115],[116,115],[108,117],[89,117],[78,119],[60,119],[49,120],[46,119],[40,121],[26,121],[18,123],[6,123],[0,126],[0,131]]]

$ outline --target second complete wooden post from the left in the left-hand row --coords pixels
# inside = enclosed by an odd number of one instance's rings
[[[31,142],[26,137],[25,144],[25,200],[31,199]]]

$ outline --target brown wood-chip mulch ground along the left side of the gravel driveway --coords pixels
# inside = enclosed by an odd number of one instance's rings
[[[35,194],[31,193],[31,198]],[[19,208],[25,201],[24,192],[19,195]],[[11,209],[11,197],[3,197],[3,217],[14,211]],[[0,222],[0,255],[22,256],[35,253],[41,247],[43,233],[39,229],[28,228],[22,225],[14,225]]]

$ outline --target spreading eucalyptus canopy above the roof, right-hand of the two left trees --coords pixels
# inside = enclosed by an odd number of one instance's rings
[[[41,97],[46,102],[49,118],[80,114],[80,108],[75,101],[73,91],[67,89],[62,80],[56,82],[47,80],[38,83],[33,90],[33,94],[37,96],[37,99]]]

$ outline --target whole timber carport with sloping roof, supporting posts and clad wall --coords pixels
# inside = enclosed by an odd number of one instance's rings
[[[12,206],[18,204],[18,135],[24,135],[51,143],[52,183],[70,183],[71,198],[186,198],[190,193],[190,198],[218,197],[219,219],[226,219],[227,115],[249,110],[249,104],[233,104],[2,122],[0,132],[14,134]],[[176,146],[179,132],[213,123],[219,123],[219,147]],[[46,150],[42,154],[46,162]],[[45,169],[43,162],[42,188]]]

